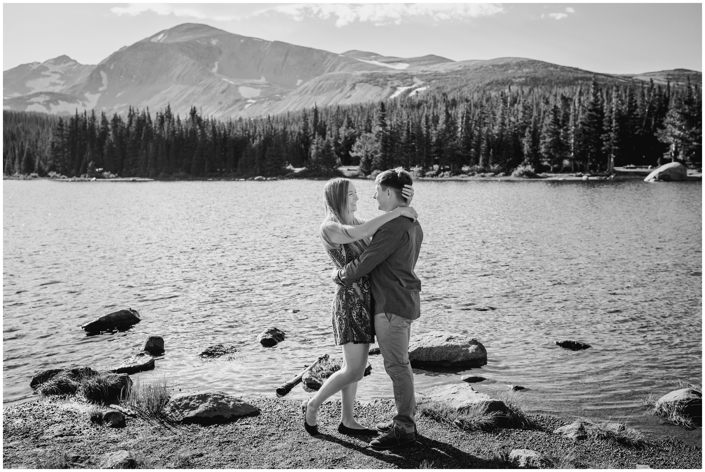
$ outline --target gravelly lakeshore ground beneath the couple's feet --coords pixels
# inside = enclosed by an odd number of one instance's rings
[[[100,455],[141,452],[154,468],[507,468],[494,459],[498,447],[533,449],[575,456],[589,468],[701,468],[702,450],[670,437],[647,437],[632,449],[605,440],[575,441],[553,434],[569,420],[529,416],[531,430],[466,432],[417,418],[419,440],[405,449],[379,451],[364,439],[337,431],[340,401],[321,406],[319,430],[302,428],[299,401],[245,398],[257,416],[218,425],[172,425],[153,418],[126,416],[125,428],[90,423],[88,405],[70,398],[44,398],[3,409],[4,468],[35,467],[42,455],[66,452],[76,467],[97,467]],[[358,404],[360,423],[388,420],[394,404],[376,400]],[[432,463],[432,464],[431,464]]]

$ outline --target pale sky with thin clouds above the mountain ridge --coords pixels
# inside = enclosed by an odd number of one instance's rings
[[[526,57],[601,73],[702,71],[702,5],[3,4],[3,70],[96,64],[182,23],[341,53]]]

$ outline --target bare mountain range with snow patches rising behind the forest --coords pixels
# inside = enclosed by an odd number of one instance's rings
[[[186,23],[114,52],[97,66],[68,56],[23,64],[3,72],[4,109],[73,114],[96,109],[124,114],[128,107],[192,106],[217,118],[258,116],[335,104],[374,102],[429,90],[497,90],[542,85],[653,79],[701,82],[684,69],[611,75],[523,58],[451,61],[374,52],[335,54],[286,42],[235,35]]]

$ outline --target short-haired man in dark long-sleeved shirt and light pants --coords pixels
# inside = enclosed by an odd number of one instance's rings
[[[384,171],[374,181],[374,198],[379,210],[390,212],[407,205],[401,190],[411,185],[411,175],[397,167]],[[415,441],[416,399],[414,375],[409,364],[411,322],[421,316],[419,291],[421,281],[414,273],[419,248],[424,238],[421,225],[407,217],[384,224],[359,258],[335,272],[333,282],[351,285],[369,273],[372,285],[372,313],[384,368],[391,377],[397,414],[389,423],[376,427],[386,434],[369,443],[379,449],[391,449]]]

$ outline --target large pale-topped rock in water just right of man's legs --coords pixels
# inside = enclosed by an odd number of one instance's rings
[[[431,331],[411,337],[409,361],[412,367],[421,368],[425,365],[479,367],[487,363],[487,351],[470,336]]]

